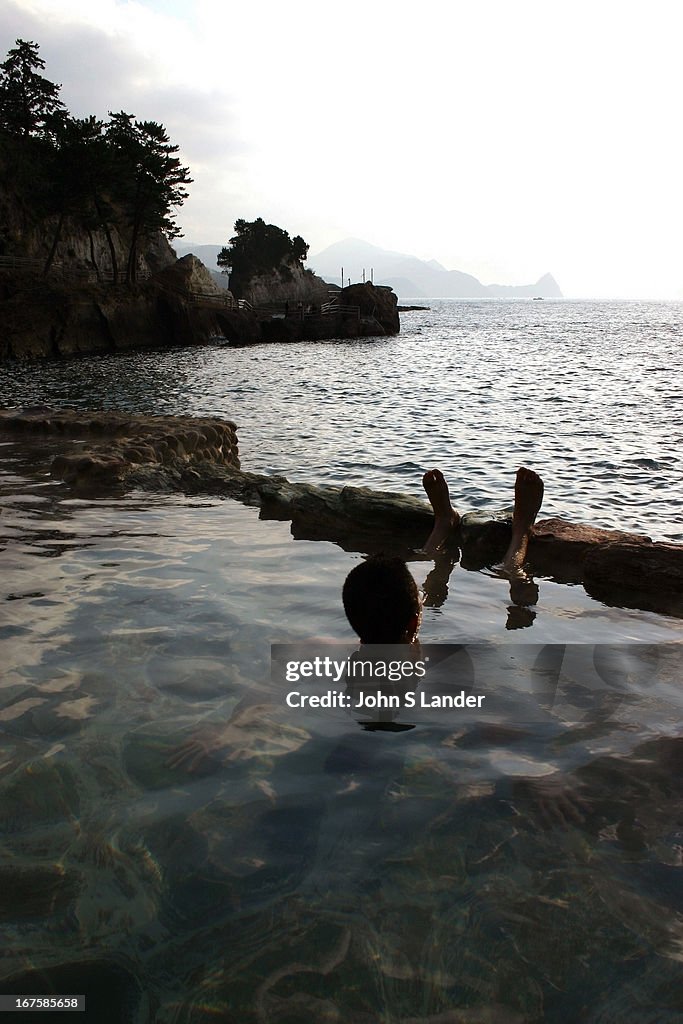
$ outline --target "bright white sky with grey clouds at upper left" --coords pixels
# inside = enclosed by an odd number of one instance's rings
[[[484,284],[683,299],[678,0],[2,0],[75,116],[161,121],[184,240],[261,216]]]

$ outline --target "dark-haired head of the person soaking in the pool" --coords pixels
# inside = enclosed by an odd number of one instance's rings
[[[361,643],[411,643],[422,602],[400,558],[373,555],[351,569],[342,591],[344,611]]]

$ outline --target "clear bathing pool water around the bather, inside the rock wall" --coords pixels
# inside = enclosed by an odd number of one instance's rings
[[[655,654],[678,624],[542,582],[532,630],[506,634],[495,721],[361,730],[287,708],[269,676],[271,640],[348,641],[356,556],[229,502],[22,484],[3,521],[5,991],[85,991],[104,1021],[677,1013],[680,662]],[[507,583],[450,587],[425,639],[488,630],[495,650]],[[540,624],[541,652],[519,641]],[[575,648],[578,624],[609,644]]]

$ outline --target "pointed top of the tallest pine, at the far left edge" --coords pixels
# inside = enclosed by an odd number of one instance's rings
[[[44,136],[50,123],[66,113],[61,86],[38,74],[45,61],[38,43],[16,40],[0,65],[0,128],[11,134]]]

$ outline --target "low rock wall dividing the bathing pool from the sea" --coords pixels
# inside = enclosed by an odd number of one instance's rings
[[[348,550],[390,549],[416,557],[432,524],[426,502],[367,487],[291,483],[240,469],[234,424],[219,419],[144,417],[38,408],[0,411],[0,432],[63,437],[52,474],[78,488],[178,488],[233,498],[263,518],[292,521],[297,538],[331,540]],[[72,442],[86,440],[76,451]],[[502,558],[510,510],[466,513],[457,543],[464,568]],[[683,616],[683,546],[562,519],[537,523],[528,547],[531,570],[583,583],[606,604]]]

